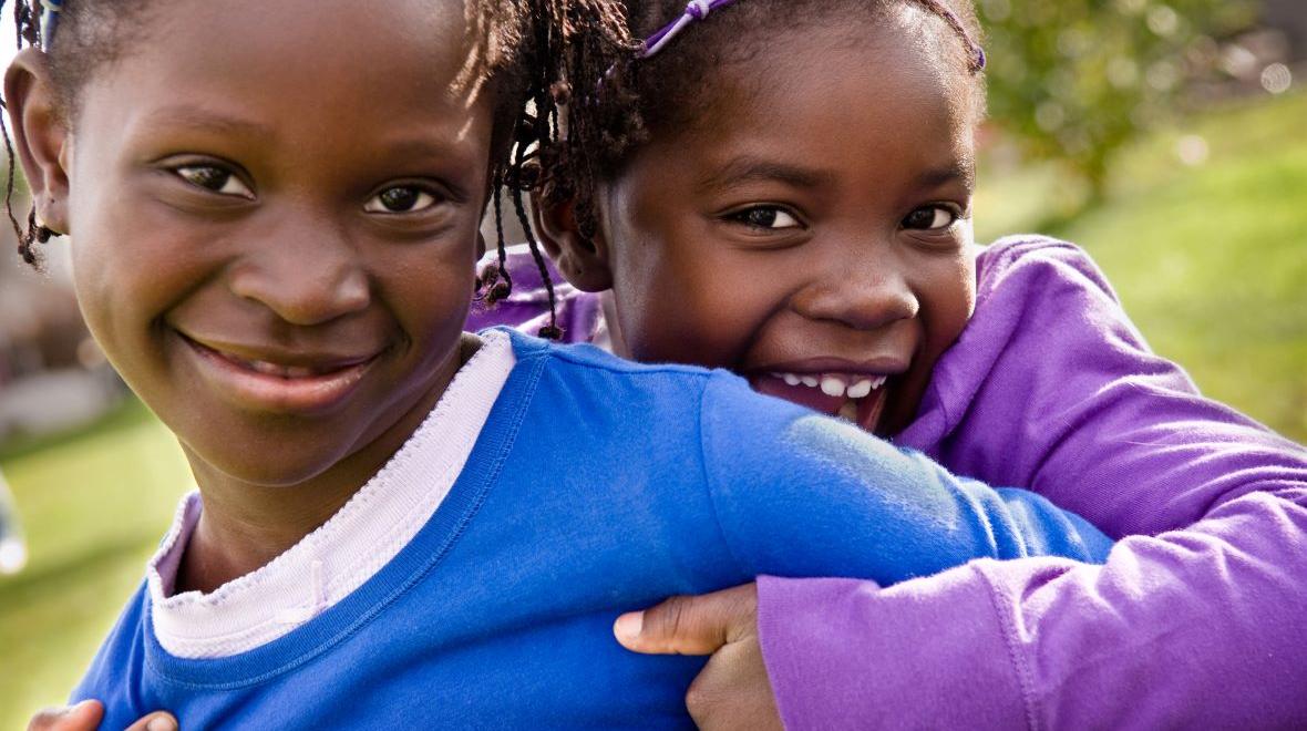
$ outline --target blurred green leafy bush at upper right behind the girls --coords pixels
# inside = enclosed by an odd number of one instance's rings
[[[978,0],[989,112],[1034,158],[1059,158],[1102,197],[1114,153],[1167,122],[1185,80],[1218,65],[1217,38],[1253,0]]]

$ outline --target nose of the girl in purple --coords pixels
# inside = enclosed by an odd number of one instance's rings
[[[912,319],[920,301],[893,251],[863,243],[821,267],[792,299],[800,315],[855,330],[877,330]]]

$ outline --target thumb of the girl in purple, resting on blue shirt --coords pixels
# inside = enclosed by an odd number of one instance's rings
[[[711,655],[757,632],[758,588],[753,583],[699,596],[673,596],[643,612],[617,617],[613,634],[623,647],[650,655]]]

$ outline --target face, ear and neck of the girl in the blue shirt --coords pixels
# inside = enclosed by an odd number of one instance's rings
[[[474,349],[491,103],[423,1],[144,17],[71,118],[37,50],[5,90],[91,332],[204,493],[179,590],[212,591],[335,514]]]

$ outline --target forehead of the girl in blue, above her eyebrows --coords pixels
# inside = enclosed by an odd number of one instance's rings
[[[322,102],[387,105],[396,97],[448,101],[478,43],[461,1],[179,0],[159,3],[154,20],[93,80],[122,92],[220,94],[243,106],[293,99],[312,112]],[[137,101],[141,94],[137,94]],[[474,99],[460,99],[471,106]]]

